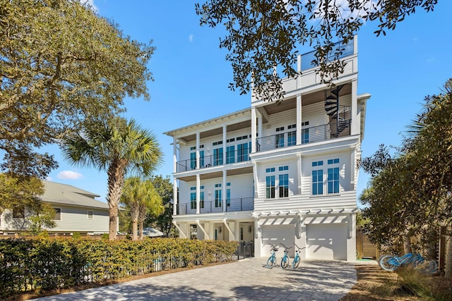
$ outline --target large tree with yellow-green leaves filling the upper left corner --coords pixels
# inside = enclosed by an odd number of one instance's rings
[[[6,161],[31,159],[52,168],[52,156],[34,147],[59,140],[87,116],[122,111],[126,96],[149,98],[153,47],[124,36],[79,1],[0,0],[0,37]]]

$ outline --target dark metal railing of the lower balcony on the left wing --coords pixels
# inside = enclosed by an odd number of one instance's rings
[[[254,210],[253,197],[241,197],[230,200],[216,200],[216,201],[200,201],[199,211],[201,214],[220,213],[223,211],[223,202],[227,202],[226,211],[251,211]],[[196,214],[196,206],[191,203],[177,204],[177,215]]]

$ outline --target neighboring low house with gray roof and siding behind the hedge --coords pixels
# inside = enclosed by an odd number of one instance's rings
[[[100,202],[93,192],[72,185],[44,181],[42,202],[55,209],[55,228],[49,233],[108,233],[108,204]],[[27,230],[30,215],[27,209],[6,210],[0,216],[0,233],[5,235]]]

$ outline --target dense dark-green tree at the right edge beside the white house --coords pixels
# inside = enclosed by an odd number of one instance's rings
[[[450,235],[446,273],[452,276],[452,79],[441,94],[425,98],[409,133],[395,158],[381,147],[362,160],[371,173],[362,195],[369,235],[389,247],[403,235],[432,254],[439,233]]]

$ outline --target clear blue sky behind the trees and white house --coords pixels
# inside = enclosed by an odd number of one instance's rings
[[[153,40],[157,49],[149,63],[155,78],[148,82],[150,102],[126,99],[126,116],[152,130],[165,153],[156,175],[172,174],[172,138],[163,133],[250,106],[250,96],[228,89],[232,68],[220,49],[221,27],[201,27],[196,1],[94,0],[97,13],[114,20],[125,35],[140,42]],[[422,109],[425,96],[437,94],[452,77],[452,1],[439,1],[435,10],[419,9],[386,36],[376,37],[376,23],[358,32],[358,93],[369,93],[363,156],[381,143],[400,145],[401,135]],[[311,51],[308,47],[301,53]],[[66,164],[57,147],[46,147],[59,168],[49,179],[95,192],[105,201],[107,176],[94,168]],[[358,195],[369,177],[359,173]]]

